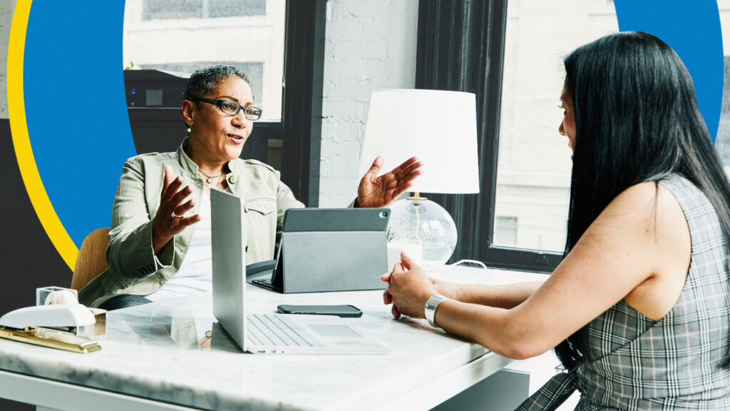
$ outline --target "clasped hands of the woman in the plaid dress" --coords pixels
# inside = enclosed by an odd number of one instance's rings
[[[436,295],[436,288],[423,268],[412,262],[401,252],[401,262],[393,267],[393,272],[380,276],[388,282],[388,290],[383,293],[383,303],[393,304],[393,317],[401,315],[423,318],[426,315],[426,301]]]

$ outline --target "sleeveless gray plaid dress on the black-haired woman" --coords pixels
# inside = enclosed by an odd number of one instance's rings
[[[692,255],[685,287],[653,321],[619,301],[578,332],[584,361],[517,410],[554,410],[576,389],[576,410],[730,410],[730,273],[715,208],[673,174],[659,182],[682,206]]]

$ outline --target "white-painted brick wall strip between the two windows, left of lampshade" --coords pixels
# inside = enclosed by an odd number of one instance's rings
[[[413,88],[417,29],[418,0],[327,2],[320,207],[357,195],[370,94]]]

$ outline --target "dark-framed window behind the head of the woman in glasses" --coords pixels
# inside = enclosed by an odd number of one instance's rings
[[[264,109],[242,157],[274,166],[299,200],[317,206],[325,22],[326,0],[127,0],[124,66],[183,75],[212,64],[242,69]],[[179,108],[128,108],[138,151],[139,138],[165,134],[174,146],[160,143],[164,151],[177,148]],[[137,132],[133,120],[147,129]]]

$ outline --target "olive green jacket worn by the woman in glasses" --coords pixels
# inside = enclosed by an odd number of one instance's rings
[[[202,203],[203,179],[198,175],[198,166],[183,151],[187,144],[185,138],[174,153],[141,154],[124,163],[112,207],[109,268],[82,288],[81,303],[99,306],[118,294],[154,293],[177,273],[196,225],[175,235],[156,255],[152,225],[160,206],[166,165],[172,167],[176,176],[183,176],[183,184],[193,190],[193,213],[198,212]],[[245,200],[246,263],[271,260],[274,248],[279,246],[284,212],[304,204],[294,198],[291,189],[280,180],[279,172],[269,165],[234,159],[228,162],[228,168],[231,173],[226,175],[226,181],[231,192]]]

